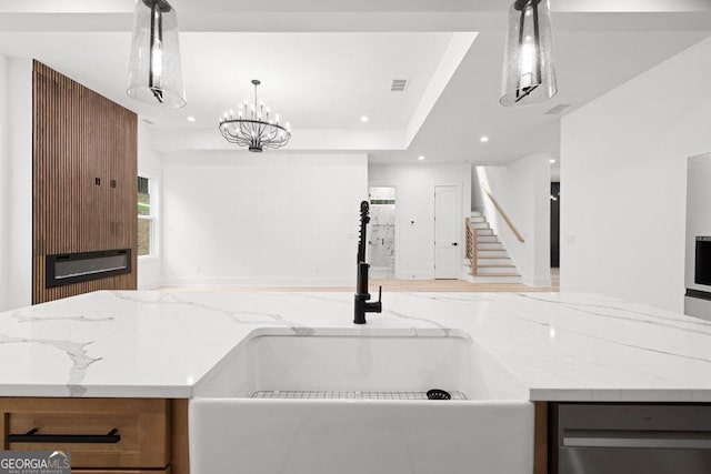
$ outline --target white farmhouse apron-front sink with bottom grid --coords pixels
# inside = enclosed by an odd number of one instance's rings
[[[408,400],[430,389],[467,400]],[[190,462],[194,474],[530,474],[533,406],[469,337],[259,334],[196,389]]]

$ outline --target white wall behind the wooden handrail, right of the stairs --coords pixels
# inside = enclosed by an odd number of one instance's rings
[[[484,215],[515,262],[523,283],[533,286],[551,284],[550,158],[533,154],[507,167],[477,167],[479,185],[472,186],[479,191]],[[484,189],[495,198],[524,242],[518,240]]]

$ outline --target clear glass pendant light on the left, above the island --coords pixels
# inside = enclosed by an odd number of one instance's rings
[[[166,0],[136,0],[128,94],[168,108],[186,104],[178,16]]]

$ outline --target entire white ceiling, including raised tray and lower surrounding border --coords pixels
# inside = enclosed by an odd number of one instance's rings
[[[504,109],[498,98],[509,1],[172,3],[188,94],[182,110],[156,110],[124,93],[132,0],[3,0],[0,53],[37,58],[154,121],[154,145],[164,151],[230,147],[214,121],[257,78],[260,99],[292,123],[289,151],[501,164],[557,155],[560,117],[544,111],[570,103],[569,113],[711,30],[708,0],[551,0],[560,93]],[[391,93],[401,78],[411,81],[408,91]]]

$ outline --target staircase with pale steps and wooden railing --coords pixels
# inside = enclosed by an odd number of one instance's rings
[[[521,275],[515,268],[515,263],[493,233],[493,229],[487,222],[487,218],[481,212],[471,213],[472,231],[477,232],[475,242],[477,271],[470,270],[469,274],[474,283],[521,283]],[[472,265],[471,250],[468,243],[467,265]]]

